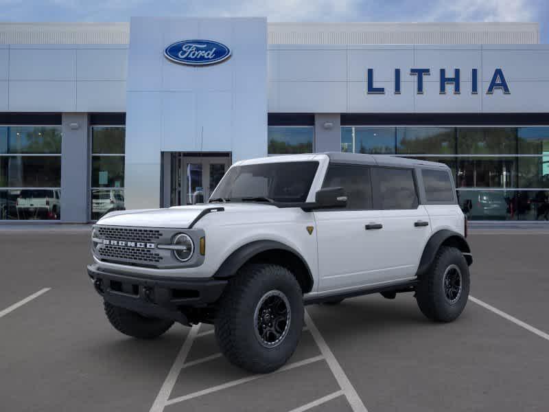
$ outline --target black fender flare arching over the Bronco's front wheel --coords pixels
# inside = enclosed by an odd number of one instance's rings
[[[307,264],[305,258],[303,258],[301,253],[296,251],[294,248],[275,240],[255,240],[254,242],[244,244],[244,246],[241,246],[233,251],[233,253],[231,253],[231,255],[224,260],[218,270],[215,271],[213,277],[215,277],[215,279],[228,279],[229,277],[233,277],[237,273],[238,269],[248,262],[248,260],[259,253],[270,250],[287,251],[301,260],[301,263],[307,269],[307,284],[310,285],[308,289],[311,290],[314,284],[314,279],[311,273],[311,268],[309,268],[309,264]],[[303,290],[303,292],[306,293],[309,290]]]

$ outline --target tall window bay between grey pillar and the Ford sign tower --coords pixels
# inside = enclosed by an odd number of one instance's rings
[[[91,128],[91,219],[124,210],[124,126]]]

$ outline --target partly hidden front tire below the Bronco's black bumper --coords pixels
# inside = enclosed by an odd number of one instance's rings
[[[167,332],[174,324],[173,321],[144,317],[119,306],[104,301],[105,314],[113,327],[128,336],[138,339],[154,339]]]

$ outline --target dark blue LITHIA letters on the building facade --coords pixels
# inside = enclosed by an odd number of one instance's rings
[[[440,78],[439,78],[439,93],[446,94],[446,85],[453,84],[454,94],[460,94],[461,85],[460,85],[460,69],[454,69],[454,76],[446,76],[446,70],[441,69]],[[417,76],[417,94],[423,94],[423,76],[430,76],[430,69],[410,69],[410,76]],[[366,80],[368,83],[368,88],[366,93],[368,94],[384,94],[384,87],[375,87],[373,69],[368,69],[368,74],[366,75]],[[395,94],[400,94],[401,90],[401,71],[400,69],[395,69]],[[502,69],[495,69],[493,72],[492,79],[488,85],[486,91],[487,94],[493,94],[495,90],[501,90],[504,94],[510,94],[509,85],[505,80]],[[471,94],[478,93],[478,69],[471,69]]]

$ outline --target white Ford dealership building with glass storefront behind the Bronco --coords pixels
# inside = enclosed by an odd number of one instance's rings
[[[549,218],[537,23],[0,23],[0,221],[201,203],[231,163],[440,161],[474,220]]]

